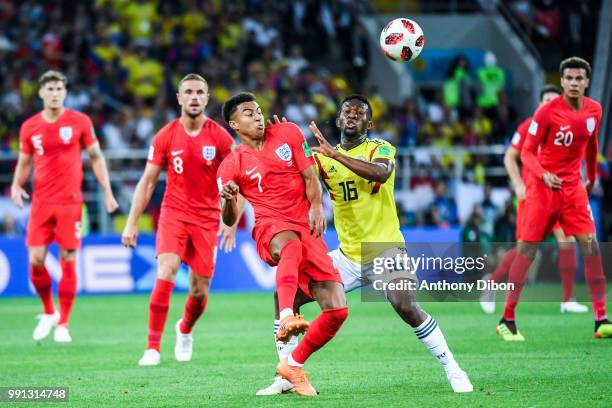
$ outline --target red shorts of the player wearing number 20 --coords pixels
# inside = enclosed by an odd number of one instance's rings
[[[557,222],[568,236],[595,233],[589,197],[582,184],[552,190],[542,180],[534,180],[522,212],[521,238],[527,242],[541,242]]]

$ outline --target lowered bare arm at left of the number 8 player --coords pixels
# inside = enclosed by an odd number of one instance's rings
[[[136,247],[136,240],[138,239],[138,218],[147,207],[147,204],[149,204],[149,201],[151,201],[151,196],[155,191],[160,173],[161,166],[147,163],[145,171],[136,185],[136,190],[134,190],[134,196],[132,197],[130,213],[125,223],[123,233],[121,234],[121,242],[127,247]]]

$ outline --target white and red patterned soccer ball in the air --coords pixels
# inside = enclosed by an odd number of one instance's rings
[[[393,61],[412,61],[424,46],[423,30],[416,22],[407,18],[389,21],[380,33],[380,48]]]

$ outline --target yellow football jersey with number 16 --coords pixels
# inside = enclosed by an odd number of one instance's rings
[[[379,139],[367,139],[359,146],[339,152],[365,161],[385,158],[395,166],[395,147]],[[353,262],[371,262],[389,247],[404,243],[399,228],[393,186],[395,169],[385,183],[376,183],[359,177],[340,162],[315,155],[317,172],[331,198],[334,225],[338,231],[340,249]],[[378,243],[376,245],[362,243]]]

